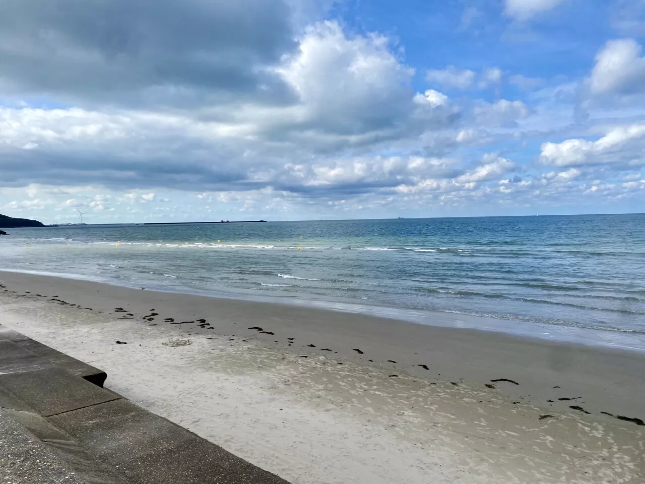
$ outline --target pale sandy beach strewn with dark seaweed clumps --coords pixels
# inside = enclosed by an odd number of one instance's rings
[[[0,322],[314,483],[640,483],[645,354],[0,272]]]

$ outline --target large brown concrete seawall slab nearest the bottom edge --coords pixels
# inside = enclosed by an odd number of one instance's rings
[[[287,484],[126,400],[48,418],[85,449],[141,484]]]

